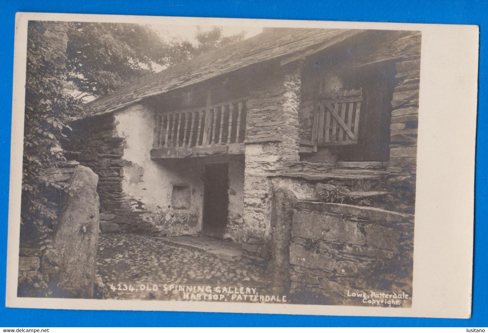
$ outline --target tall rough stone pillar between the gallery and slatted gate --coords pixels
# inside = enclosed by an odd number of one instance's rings
[[[244,225],[247,237],[244,253],[267,257],[270,236],[271,180],[284,163],[300,157],[298,109],[301,99],[302,61],[293,62],[251,92],[247,101],[245,140]]]

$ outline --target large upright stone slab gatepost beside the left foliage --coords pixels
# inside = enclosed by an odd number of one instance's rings
[[[97,183],[90,168],[77,166],[61,199],[52,238],[55,251],[42,259],[42,272],[56,285],[55,297],[93,297],[100,224]]]

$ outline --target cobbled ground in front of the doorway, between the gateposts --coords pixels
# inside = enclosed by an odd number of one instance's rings
[[[244,287],[244,293],[269,285],[264,269],[242,260],[225,261],[203,250],[134,234],[100,235],[97,273],[105,285],[102,297],[110,299],[183,300],[184,292],[169,290],[170,285]]]

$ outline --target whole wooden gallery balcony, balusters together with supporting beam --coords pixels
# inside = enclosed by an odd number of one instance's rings
[[[151,159],[244,154],[245,100],[156,115]]]

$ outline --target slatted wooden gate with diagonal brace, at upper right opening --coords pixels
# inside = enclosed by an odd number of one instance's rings
[[[312,141],[317,146],[358,143],[362,89],[325,92],[315,103]]]

